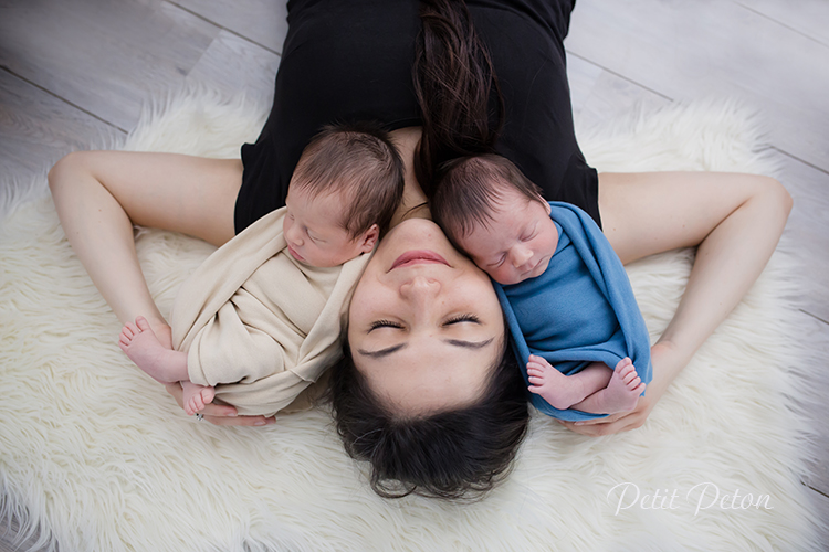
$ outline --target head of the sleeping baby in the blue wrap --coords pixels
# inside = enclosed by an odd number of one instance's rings
[[[452,244],[500,284],[541,276],[558,244],[541,189],[501,156],[442,166],[431,210]]]

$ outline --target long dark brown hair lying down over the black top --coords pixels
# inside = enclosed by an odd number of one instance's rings
[[[431,199],[443,162],[494,151],[504,100],[486,45],[462,0],[424,0],[420,19],[412,79],[423,134],[414,176]]]

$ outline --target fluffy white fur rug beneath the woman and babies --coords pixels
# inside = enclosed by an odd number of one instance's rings
[[[264,115],[243,102],[182,96],[148,112],[124,149],[233,157]],[[772,173],[755,153],[759,136],[741,106],[701,103],[583,130],[581,142],[600,170]],[[211,247],[157,231],[137,241],[169,312]],[[679,252],[629,267],[654,339],[690,258]],[[7,217],[0,263],[2,513],[40,526],[61,551],[815,546],[798,482],[805,436],[787,399],[800,393],[789,373],[799,360],[779,252],[644,427],[588,438],[536,415],[508,480],[472,505],[374,496],[323,410],[267,428],[187,417],[116,346],[120,325],[49,198]]]

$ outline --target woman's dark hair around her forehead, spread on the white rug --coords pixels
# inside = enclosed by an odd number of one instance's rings
[[[478,402],[426,416],[390,412],[355,367],[347,346],[344,352],[332,370],[328,397],[346,450],[368,460],[371,488],[379,496],[475,500],[510,473],[529,411],[508,347],[502,348]]]

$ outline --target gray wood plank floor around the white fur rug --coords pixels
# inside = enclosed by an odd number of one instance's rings
[[[0,192],[113,144],[148,97],[180,86],[267,102],[285,13],[285,0],[0,0]],[[578,123],[709,96],[762,112],[795,197],[786,234],[804,263],[810,384],[829,394],[829,2],[579,0],[566,46]],[[802,480],[829,520],[829,406],[808,413],[819,460]],[[0,528],[0,551],[17,532]]]

